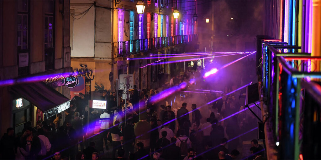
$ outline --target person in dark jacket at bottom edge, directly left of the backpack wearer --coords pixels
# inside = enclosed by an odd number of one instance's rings
[[[176,146],[176,138],[172,137],[170,139],[170,145],[163,150],[163,156],[165,159],[180,159],[181,149]]]

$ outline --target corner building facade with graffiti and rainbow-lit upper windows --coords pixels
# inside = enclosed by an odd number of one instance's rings
[[[143,2],[144,13],[137,14],[136,0],[71,1],[71,67],[85,77],[85,94],[91,99],[104,90],[115,91],[120,74],[133,74],[138,88],[151,89],[162,68],[165,75],[184,68],[177,63],[155,65],[169,59],[149,59],[151,54],[196,51],[197,1]],[[178,19],[173,17],[176,8]]]

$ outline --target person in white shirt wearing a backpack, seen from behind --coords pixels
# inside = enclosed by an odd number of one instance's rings
[[[187,156],[188,148],[191,148],[191,141],[185,135],[185,130],[179,130],[179,135],[176,140],[176,146],[181,148],[181,159]]]

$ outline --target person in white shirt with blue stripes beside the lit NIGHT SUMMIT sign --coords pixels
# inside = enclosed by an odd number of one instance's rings
[[[100,124],[100,135],[101,135],[101,140],[105,140],[105,146],[106,149],[108,150],[108,142],[107,142],[107,135],[108,135],[108,129],[109,129],[109,124],[110,124],[110,115],[107,113],[107,109],[103,109],[103,114],[100,115],[99,118],[99,124]]]

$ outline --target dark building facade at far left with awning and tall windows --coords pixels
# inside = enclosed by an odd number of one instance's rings
[[[2,135],[8,127],[21,132],[27,121],[35,126],[50,116],[47,107],[55,102],[38,98],[68,102],[70,89],[61,80],[71,73],[69,1],[1,1],[0,17]]]

